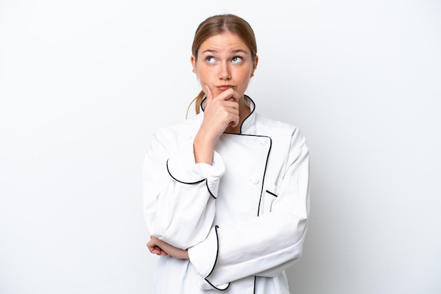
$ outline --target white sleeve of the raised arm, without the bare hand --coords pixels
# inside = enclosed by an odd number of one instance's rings
[[[203,241],[215,214],[223,161],[195,163],[192,141],[178,142],[178,131],[157,132],[144,159],[144,216],[149,233],[186,249]]]

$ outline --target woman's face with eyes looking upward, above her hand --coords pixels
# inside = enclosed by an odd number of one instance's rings
[[[198,58],[192,56],[194,73],[202,89],[208,85],[216,97],[232,87],[242,97],[254,74],[258,58],[251,58],[251,51],[237,36],[225,32],[206,39],[198,51]]]

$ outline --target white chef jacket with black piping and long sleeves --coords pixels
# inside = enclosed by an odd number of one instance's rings
[[[309,151],[297,127],[255,111],[240,134],[195,163],[204,113],[159,129],[143,168],[149,233],[187,249],[159,257],[154,294],[289,293],[285,269],[302,255],[309,215]]]

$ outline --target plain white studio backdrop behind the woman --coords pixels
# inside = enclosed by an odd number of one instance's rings
[[[292,293],[441,293],[440,1],[0,1],[0,293],[151,293],[151,134],[199,91],[197,25],[256,31],[257,110],[302,129]]]

